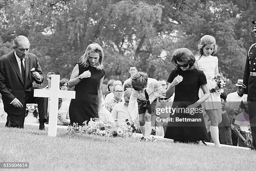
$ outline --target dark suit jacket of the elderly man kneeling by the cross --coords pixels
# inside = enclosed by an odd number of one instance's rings
[[[30,70],[33,67],[41,75],[41,81],[32,77]],[[25,59],[25,83],[23,83],[14,52],[0,58],[0,93],[2,94],[6,113],[21,114],[22,108],[16,108],[10,104],[10,102],[17,98],[24,106],[33,90],[33,81],[36,81],[37,84],[41,84],[44,81],[44,76],[41,67],[38,64],[36,55],[28,53],[28,56]]]

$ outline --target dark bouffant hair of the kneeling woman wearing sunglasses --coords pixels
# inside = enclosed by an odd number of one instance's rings
[[[172,55],[172,63],[176,68],[179,68],[177,66],[177,61],[186,62],[187,64],[189,64],[189,69],[195,69],[195,56],[187,48],[179,48],[174,51]]]

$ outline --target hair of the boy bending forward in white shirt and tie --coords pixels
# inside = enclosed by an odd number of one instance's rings
[[[146,72],[137,72],[132,78],[132,86],[136,91],[142,90],[147,87],[148,74]]]

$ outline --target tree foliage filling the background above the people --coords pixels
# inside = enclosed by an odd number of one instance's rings
[[[131,64],[167,79],[173,51],[187,47],[197,54],[208,34],[219,47],[220,72],[236,82],[255,41],[255,6],[255,0],[0,0],[0,55],[25,35],[44,74],[69,78],[87,45],[98,42],[107,79],[127,79]]]

